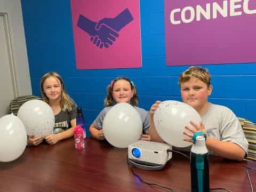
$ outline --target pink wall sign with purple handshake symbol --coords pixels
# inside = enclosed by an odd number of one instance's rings
[[[141,67],[139,0],[71,0],[77,69]]]

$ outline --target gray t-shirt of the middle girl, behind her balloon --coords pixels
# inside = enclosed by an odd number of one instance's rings
[[[107,112],[109,111],[109,109],[111,109],[111,107],[105,107],[104,109],[102,109],[99,113],[99,115],[95,118],[95,120],[93,121],[93,125],[96,129],[101,130],[102,129],[102,123],[103,123],[103,119],[105,117],[105,115],[107,114]],[[141,120],[143,123],[143,133],[146,133],[146,131],[149,130],[149,116],[148,116],[148,111],[146,111],[145,109],[139,108],[134,106],[134,108],[139,112],[140,116],[141,116]]]

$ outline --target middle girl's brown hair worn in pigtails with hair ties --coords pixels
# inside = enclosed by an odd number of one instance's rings
[[[131,90],[134,90],[133,97],[131,98],[130,104],[131,104],[132,106],[138,106],[138,105],[139,105],[139,101],[138,101],[136,86],[133,84],[132,81],[130,81],[129,78],[126,78],[126,77],[117,77],[114,81],[111,81],[111,84],[110,84],[110,85],[107,86],[107,97],[106,97],[105,100],[104,100],[104,106],[105,106],[105,107],[109,107],[109,106],[115,105],[116,101],[115,101],[115,99],[113,98],[112,92],[113,92],[114,84],[115,84],[117,81],[119,81],[119,80],[125,80],[125,81],[127,81],[127,82],[130,83],[130,85],[131,85]]]

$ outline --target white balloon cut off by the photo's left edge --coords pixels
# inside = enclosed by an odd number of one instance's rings
[[[0,118],[0,162],[17,159],[27,145],[27,133],[21,120],[15,115]]]

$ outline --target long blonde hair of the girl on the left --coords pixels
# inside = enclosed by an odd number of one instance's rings
[[[46,73],[41,78],[41,94],[42,94],[43,100],[50,105],[49,98],[47,98],[46,94],[44,93],[44,87],[43,87],[45,80],[49,77],[54,77],[55,79],[57,79],[58,82],[60,82],[60,86],[61,86],[60,107],[61,107],[61,110],[63,111],[68,110],[70,112],[72,110],[72,106],[74,105],[74,102],[71,100],[71,98],[67,94],[63,80],[58,73],[55,73],[55,72]]]

